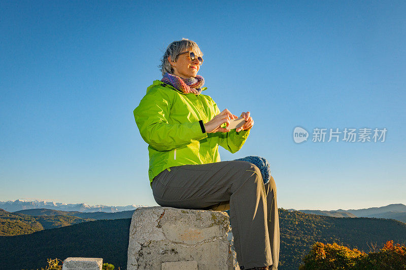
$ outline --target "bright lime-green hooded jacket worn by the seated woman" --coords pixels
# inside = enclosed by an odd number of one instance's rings
[[[134,109],[134,118],[141,137],[149,144],[151,185],[154,177],[167,168],[221,161],[218,145],[231,153],[241,149],[249,130],[202,133],[199,120],[207,123],[219,113],[208,95],[184,94],[158,80],[147,88],[147,94]]]

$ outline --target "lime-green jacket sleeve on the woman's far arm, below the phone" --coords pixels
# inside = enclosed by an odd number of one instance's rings
[[[219,114],[221,111],[217,107],[217,104],[213,101],[214,108],[216,110],[216,115]],[[225,128],[226,123],[222,124],[221,127]],[[212,134],[212,133],[210,133]],[[213,133],[218,136],[218,144],[222,146],[224,149],[227,149],[231,153],[235,153],[236,151],[240,150],[243,147],[245,141],[250,135],[250,130],[242,130],[240,132],[236,132],[235,129],[232,129],[229,132],[216,132]]]

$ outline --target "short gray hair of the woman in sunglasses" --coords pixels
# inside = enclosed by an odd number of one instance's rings
[[[162,76],[168,72],[170,74],[174,73],[174,68],[168,60],[168,56],[171,56],[171,60],[176,62],[178,56],[182,51],[191,49],[197,56],[203,56],[202,52],[199,49],[199,46],[194,41],[188,40],[187,38],[182,38],[181,41],[174,41],[171,43],[168,48],[166,48],[165,53],[161,58],[161,64],[159,65],[159,70],[162,71]]]

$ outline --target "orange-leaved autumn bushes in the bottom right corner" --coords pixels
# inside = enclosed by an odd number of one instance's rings
[[[381,250],[364,253],[316,242],[302,261],[299,270],[402,270],[406,269],[406,246],[387,241]]]

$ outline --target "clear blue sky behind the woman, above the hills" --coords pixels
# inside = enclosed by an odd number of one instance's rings
[[[0,201],[156,205],[132,110],[187,37],[205,94],[255,121],[222,160],[266,158],[278,207],[406,204],[406,2],[269,2],[1,1]],[[388,131],[296,144],[296,126]]]

